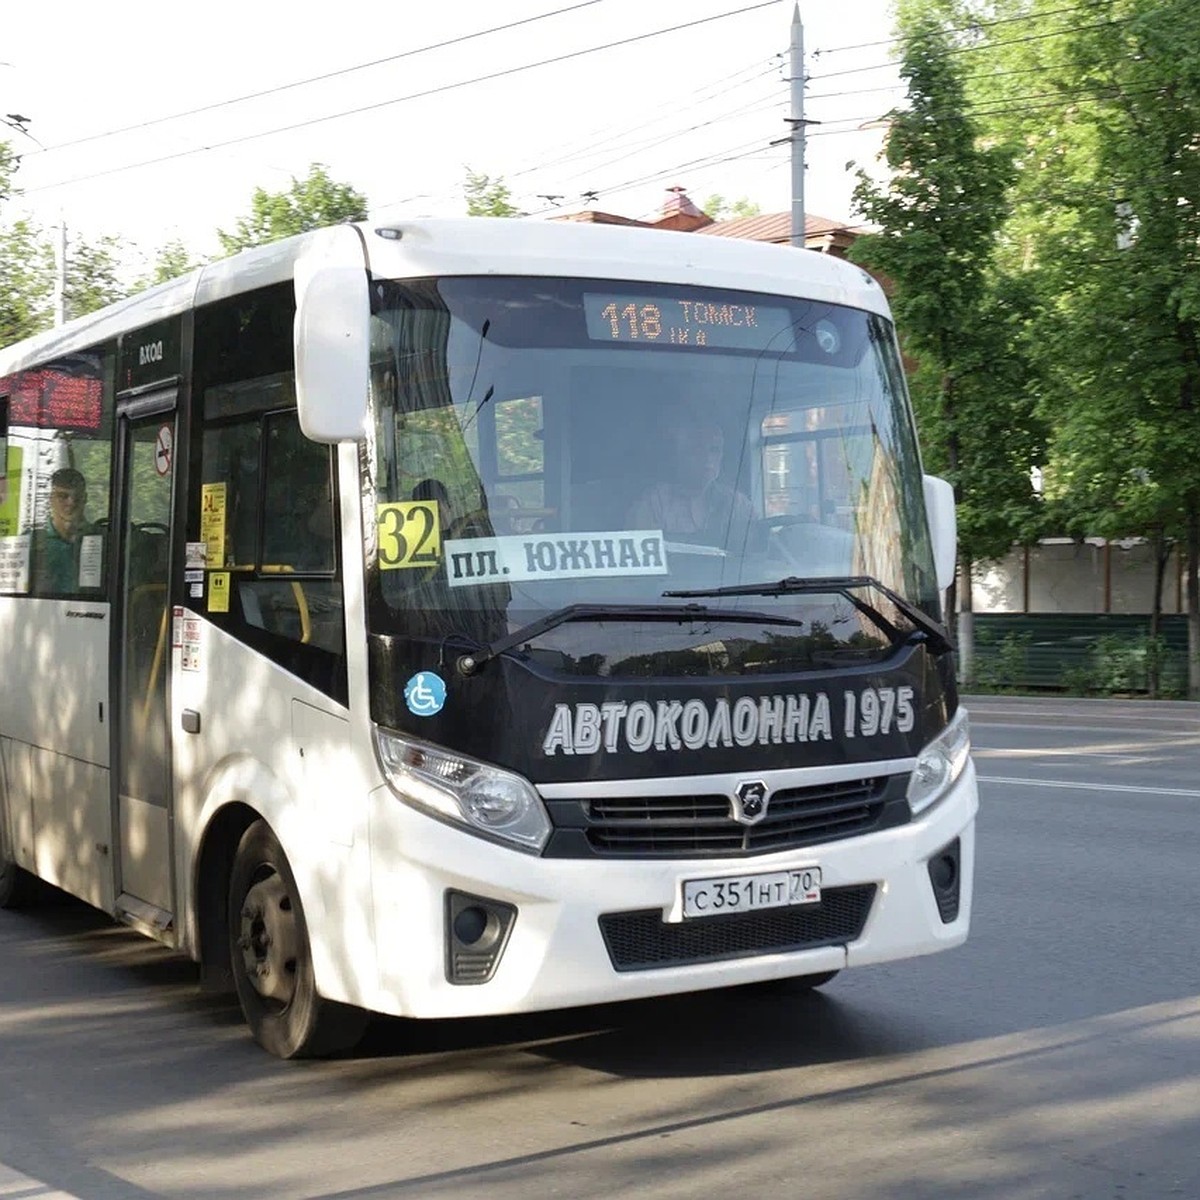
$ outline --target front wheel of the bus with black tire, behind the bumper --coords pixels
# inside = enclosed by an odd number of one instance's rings
[[[229,961],[254,1040],[278,1058],[352,1049],[367,1014],[317,995],[300,893],[265,821],[241,836],[229,876]]]

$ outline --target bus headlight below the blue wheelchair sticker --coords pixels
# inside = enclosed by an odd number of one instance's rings
[[[546,845],[550,818],[520,775],[380,728],[376,749],[391,790],[406,804],[534,854]]]

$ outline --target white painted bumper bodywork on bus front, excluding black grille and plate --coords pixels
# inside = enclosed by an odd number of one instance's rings
[[[911,764],[910,764],[911,766]],[[858,764],[858,772],[862,764]],[[772,786],[805,780],[803,769],[768,773]],[[811,776],[810,776],[811,778]],[[644,788],[644,781],[640,781]],[[703,787],[690,778],[688,785]],[[949,949],[966,940],[974,875],[978,806],[973,768],[947,797],[907,826],[752,859],[671,862],[534,858],[492,846],[402,804],[388,787],[371,796],[371,872],[380,990],[361,1003],[403,1016],[478,1016],[724,988],[835,971]],[[943,924],[928,863],[961,840],[961,896]],[[820,865],[822,888],[875,883],[862,937],[847,948],[821,947],[694,966],[623,971],[612,966],[599,917],[678,905],[685,878]],[[490,983],[456,986],[445,978],[446,888],[503,900],[518,913]]]

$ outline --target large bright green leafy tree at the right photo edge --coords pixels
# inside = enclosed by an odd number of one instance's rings
[[[1182,0],[998,13],[1027,36],[995,28],[974,95],[1021,146],[1006,242],[1043,298],[1048,492],[1073,532],[1152,542],[1152,622],[1184,547],[1200,698],[1200,14]]]

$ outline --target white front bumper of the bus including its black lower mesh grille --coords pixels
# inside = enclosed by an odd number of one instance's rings
[[[971,923],[977,808],[968,763],[928,812],[844,841],[752,858],[546,859],[431,820],[378,788],[370,804],[378,986],[361,1003],[398,1016],[498,1015],[949,949],[966,938]],[[946,904],[943,887],[940,908],[935,880],[946,883],[947,856],[956,874],[954,902]],[[808,866],[821,869],[822,892],[820,905],[803,906],[808,912],[682,919],[685,880]],[[485,982],[451,982],[454,912],[473,899],[510,913],[510,926]],[[804,948],[772,944],[791,936],[787,928],[780,934],[780,919],[803,932],[797,944]]]

